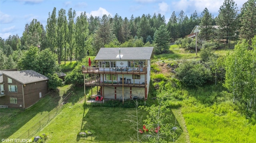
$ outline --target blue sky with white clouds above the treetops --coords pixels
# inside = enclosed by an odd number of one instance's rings
[[[247,0],[234,0],[241,9],[242,4]],[[224,0],[0,0],[0,37],[7,39],[9,35],[18,34],[20,37],[26,24],[30,24],[33,19],[37,19],[46,26],[48,13],[52,13],[54,7],[58,11],[63,8],[76,11],[76,16],[81,12],[86,12],[87,16],[100,16],[118,14],[123,19],[130,19],[150,14],[151,16],[160,13],[168,22],[171,14],[175,11],[176,15],[181,10],[190,17],[196,10],[198,16],[204,8],[216,17],[218,10]]]

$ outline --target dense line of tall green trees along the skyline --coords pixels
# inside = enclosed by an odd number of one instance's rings
[[[66,60],[81,60],[84,56],[96,55],[100,47],[142,47],[154,46],[154,53],[161,54],[168,51],[168,45],[178,38],[186,37],[192,29],[200,26],[201,39],[228,39],[237,35],[250,40],[256,33],[255,0],[248,0],[238,14],[238,7],[234,0],[225,0],[220,6],[219,14],[214,16],[205,8],[198,16],[195,11],[188,17],[183,10],[178,15],[172,12],[166,23],[161,14],[143,14],[130,19],[124,19],[116,14],[114,17],[104,15],[86,16],[86,12],[78,14],[70,8],[68,12],[63,8],[58,11],[53,8],[48,13],[46,28],[36,19],[26,24],[22,37],[9,36],[0,38],[1,60],[17,62],[14,51],[28,50],[31,46],[40,50],[49,48],[56,53],[58,63]],[[75,19],[76,18],[76,19]],[[214,31],[213,25],[220,27]],[[20,51],[18,52],[20,53]],[[12,55],[12,58],[8,57]]]

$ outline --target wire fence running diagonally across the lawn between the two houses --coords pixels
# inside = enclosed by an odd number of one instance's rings
[[[67,93],[67,92],[66,92]],[[22,133],[15,141],[14,143],[24,143],[24,139],[30,139],[32,135],[34,135],[36,132],[38,132],[42,127],[44,127],[48,122],[51,121],[58,113],[61,111],[61,108],[63,106],[63,102],[68,99],[68,97],[71,95],[71,92],[69,92],[65,96],[65,90],[60,90],[59,95],[62,96],[62,100],[60,100],[59,104],[52,109],[46,116],[44,116],[40,121],[38,121],[35,125],[33,125],[30,129]]]

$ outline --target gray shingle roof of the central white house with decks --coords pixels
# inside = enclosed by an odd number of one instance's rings
[[[150,60],[154,47],[122,47],[122,60]],[[119,48],[100,48],[94,60],[120,60]]]

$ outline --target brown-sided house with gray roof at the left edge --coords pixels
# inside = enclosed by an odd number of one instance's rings
[[[0,107],[26,109],[48,93],[48,77],[33,70],[0,71]]]

